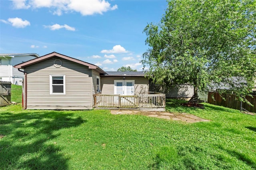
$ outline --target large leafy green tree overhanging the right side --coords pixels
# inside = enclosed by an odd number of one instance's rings
[[[255,0],[169,0],[161,21],[144,29],[142,64],[155,83],[192,83],[196,95],[225,86],[246,101],[256,73],[255,30]]]

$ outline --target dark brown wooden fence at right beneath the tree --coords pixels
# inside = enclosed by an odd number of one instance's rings
[[[214,96],[214,99],[212,99],[212,95]],[[246,99],[254,106],[250,106],[247,103],[242,102],[242,108],[246,109],[249,112],[256,112],[256,95],[252,96],[253,97],[246,96]],[[223,100],[222,97],[224,97],[225,100]],[[219,95],[218,92],[209,92],[208,103],[240,110],[241,102],[236,100],[235,95],[222,94],[222,97]]]

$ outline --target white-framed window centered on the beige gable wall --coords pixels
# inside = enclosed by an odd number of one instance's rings
[[[65,75],[50,75],[50,95],[65,95]]]

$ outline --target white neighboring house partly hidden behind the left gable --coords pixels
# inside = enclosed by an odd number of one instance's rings
[[[38,57],[40,56],[36,53],[0,54],[0,81],[10,81],[12,84],[22,85],[20,81],[24,74],[12,66]]]

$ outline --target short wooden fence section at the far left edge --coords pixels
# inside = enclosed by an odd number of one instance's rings
[[[11,88],[11,82],[0,81],[0,107],[11,104]]]

